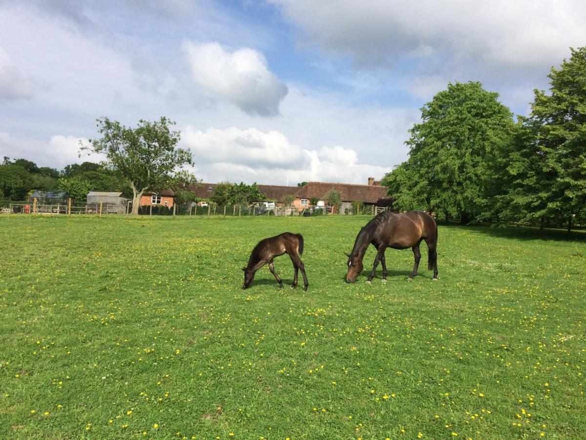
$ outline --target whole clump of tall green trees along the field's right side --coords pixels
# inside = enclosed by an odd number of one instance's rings
[[[543,225],[586,221],[586,48],[552,68],[531,113],[478,82],[450,83],[421,109],[407,161],[382,184],[401,210]]]

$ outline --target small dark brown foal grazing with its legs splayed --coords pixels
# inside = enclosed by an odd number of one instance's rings
[[[293,278],[291,289],[297,286],[297,274],[299,269],[301,269],[301,275],[303,276],[304,282],[303,290],[307,290],[309,283],[307,282],[307,276],[305,275],[305,266],[303,265],[301,258],[299,258],[299,255],[303,253],[303,237],[299,233],[295,234],[291,232],[283,232],[277,236],[265,238],[254,246],[253,252],[248,259],[248,266],[242,268],[242,270],[244,270],[244,285],[242,288],[247,289],[250,287],[250,283],[253,282],[256,271],[267,263],[268,269],[271,270],[272,275],[277,279],[279,286],[283,287],[283,282],[275,272],[272,260],[284,253],[289,254],[289,257],[293,262],[293,267],[295,268],[295,276]]]

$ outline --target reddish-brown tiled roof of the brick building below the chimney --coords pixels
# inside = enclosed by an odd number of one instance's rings
[[[297,198],[323,199],[326,192],[338,191],[343,202],[376,203],[381,198],[387,197],[387,188],[379,185],[355,185],[329,182],[309,182],[297,191]]]

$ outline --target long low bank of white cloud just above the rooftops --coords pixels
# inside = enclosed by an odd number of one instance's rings
[[[197,177],[209,182],[366,184],[368,177],[380,178],[391,170],[390,167],[359,164],[356,151],[339,145],[305,150],[282,133],[255,128],[199,131],[188,127],[182,143],[192,150]]]

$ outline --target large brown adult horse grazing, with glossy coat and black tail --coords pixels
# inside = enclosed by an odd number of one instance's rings
[[[387,280],[387,265],[384,261],[384,251],[387,248],[413,249],[415,265],[409,277],[409,279],[413,279],[417,275],[417,268],[421,259],[419,245],[423,240],[425,240],[428,247],[427,268],[434,270],[433,279],[435,281],[438,279],[438,260],[437,251],[435,250],[438,242],[438,228],[434,218],[423,211],[409,211],[403,212],[403,214],[394,214],[389,211],[381,212],[368,222],[364,228],[360,229],[356,236],[352,253],[346,254],[348,256],[346,281],[349,283],[355,282],[358,274],[362,272],[362,259],[370,244],[378,252],[376,258],[374,258],[372,272],[370,272],[366,280],[367,283],[370,283],[370,280],[374,278],[379,262],[383,263],[383,281]]]

